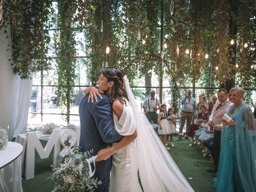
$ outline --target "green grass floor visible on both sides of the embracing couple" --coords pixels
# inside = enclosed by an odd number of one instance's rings
[[[46,141],[42,141],[43,146]],[[185,178],[188,180],[195,192],[214,192],[212,173],[206,171],[211,168],[210,160],[203,157],[203,153],[198,147],[188,147],[190,141],[184,138],[181,141],[173,139],[175,147],[168,150]],[[156,162],[157,163],[157,162]],[[35,177],[29,180],[22,180],[24,192],[50,192],[54,189],[54,181],[47,179],[51,176],[52,152],[49,158],[40,159],[38,153],[35,155]],[[188,178],[192,178],[192,180]],[[47,180],[46,180],[47,179]]]

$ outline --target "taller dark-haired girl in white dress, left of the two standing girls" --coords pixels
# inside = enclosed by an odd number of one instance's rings
[[[164,146],[166,144],[167,135],[171,133],[172,131],[167,120],[166,104],[161,104],[160,113],[158,116],[158,134],[162,135],[161,141],[163,142]],[[166,149],[169,150],[170,148],[166,147]]]

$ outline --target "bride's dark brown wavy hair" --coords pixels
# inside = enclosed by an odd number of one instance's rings
[[[124,98],[128,100],[127,92],[124,89],[124,73],[118,67],[105,67],[100,70],[102,75],[106,77],[107,81],[113,81],[114,86],[112,93],[110,94],[110,102],[113,103],[114,100],[118,99],[126,104]]]

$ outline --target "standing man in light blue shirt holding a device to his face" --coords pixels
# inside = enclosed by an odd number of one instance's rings
[[[180,131],[177,141],[181,140],[181,134],[183,131],[184,124],[186,122],[186,130],[188,130],[189,125],[191,124],[193,115],[196,114],[196,99],[191,96],[192,91],[187,90],[186,96],[182,96],[181,100],[181,113],[180,113]]]

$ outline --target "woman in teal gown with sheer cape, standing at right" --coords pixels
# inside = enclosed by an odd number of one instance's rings
[[[252,110],[242,102],[244,89],[232,88],[223,120],[217,192],[256,192],[256,127]]]

